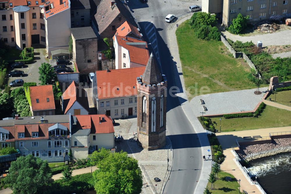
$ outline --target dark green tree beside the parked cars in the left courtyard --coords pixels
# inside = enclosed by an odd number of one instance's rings
[[[52,84],[55,85],[56,74],[54,68],[49,63],[42,63],[39,69],[39,78],[41,85]]]

